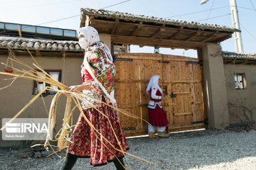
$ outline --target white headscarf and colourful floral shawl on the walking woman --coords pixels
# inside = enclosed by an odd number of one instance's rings
[[[81,34],[85,36],[85,38],[80,38],[79,40],[80,46],[85,49],[85,57],[82,64],[106,96],[110,98],[110,101],[115,103],[115,68],[110,49],[100,41],[95,28],[87,26],[79,28],[77,31],[79,36]]]

